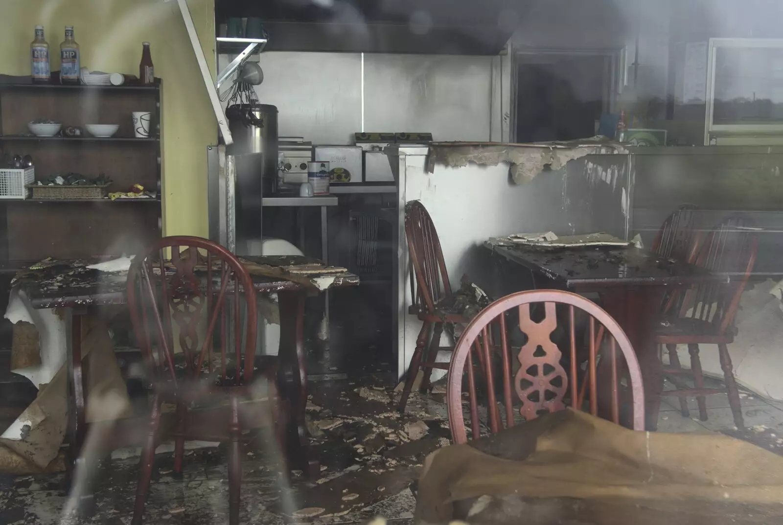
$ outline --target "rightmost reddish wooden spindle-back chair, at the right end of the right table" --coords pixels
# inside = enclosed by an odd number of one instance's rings
[[[685,417],[690,415],[686,397],[695,396],[699,419],[706,421],[705,396],[727,394],[734,424],[738,428],[742,428],[744,422],[727,344],[734,340],[734,315],[756,263],[758,237],[756,233],[746,229],[750,225],[749,218],[735,214],[724,219],[709,232],[698,250],[695,264],[713,273],[726,274],[731,279],[730,282],[699,284],[680,294],[680,299],[669,309],[669,312],[673,313],[666,312],[655,336],[655,342],[665,344],[669,351],[670,366],[664,372],[677,387],[676,390],[666,390],[663,395],[680,397],[680,410]],[[704,387],[699,343],[718,346],[720,367],[726,381],[725,389]],[[688,345],[688,352],[691,354],[690,370],[681,368],[677,344]],[[683,375],[692,376],[694,388],[688,387],[681,379],[680,376]]]

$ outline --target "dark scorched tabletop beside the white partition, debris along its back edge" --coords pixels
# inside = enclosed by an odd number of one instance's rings
[[[586,286],[677,286],[695,282],[728,282],[728,275],[712,274],[692,264],[659,257],[633,246],[539,248],[507,246],[489,240],[484,244],[514,261],[567,288]]]

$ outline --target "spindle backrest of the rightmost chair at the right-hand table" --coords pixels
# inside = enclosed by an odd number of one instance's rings
[[[734,323],[740,297],[756,264],[758,245],[752,221],[744,214],[731,214],[708,232],[695,264],[728,275],[730,282],[692,286],[677,303],[680,317],[711,322],[722,335]]]

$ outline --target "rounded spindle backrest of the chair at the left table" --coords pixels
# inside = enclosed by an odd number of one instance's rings
[[[131,264],[128,306],[153,379],[182,379],[175,374],[175,333],[184,379],[209,376],[224,385],[252,379],[255,291],[247,270],[223,246],[200,237],[158,240]]]

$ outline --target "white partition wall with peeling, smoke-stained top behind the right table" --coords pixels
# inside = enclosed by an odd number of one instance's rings
[[[514,184],[508,164],[452,168],[435,165],[425,171],[427,148],[401,148],[399,202],[420,200],[438,231],[452,289],[467,274],[489,286],[493,264],[483,243],[489,237],[520,232],[579,234],[611,232],[623,237],[629,210],[631,174],[627,156],[587,156],[559,171],[545,171],[531,182]],[[611,176],[610,176],[611,175]],[[623,212],[623,210],[625,210]],[[402,221],[401,221],[402,223]],[[400,239],[405,239],[402,230]],[[399,373],[407,368],[421,323],[407,314],[411,304],[407,246],[399,246]]]

